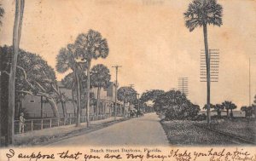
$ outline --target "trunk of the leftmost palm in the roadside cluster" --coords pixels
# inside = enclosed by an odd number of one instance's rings
[[[81,119],[81,95],[80,95],[80,83],[79,83],[79,73],[75,71],[76,83],[77,83],[77,121],[76,127],[80,125]]]

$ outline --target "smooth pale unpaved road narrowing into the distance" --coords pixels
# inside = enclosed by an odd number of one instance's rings
[[[160,118],[155,113],[113,124],[89,134],[74,136],[53,146],[169,146]]]

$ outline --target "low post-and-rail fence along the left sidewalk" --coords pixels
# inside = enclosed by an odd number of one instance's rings
[[[101,119],[106,119],[110,117],[110,113],[105,114],[99,114],[98,118],[96,118],[96,115],[90,115],[90,121],[96,121]],[[86,117],[81,116],[80,118],[81,123],[86,122]],[[39,130],[39,129],[47,129],[47,128],[53,128],[58,126],[65,126],[70,124],[75,124],[76,118],[75,117],[67,117],[67,118],[43,118],[43,119],[26,119],[25,120],[25,127],[24,132],[29,132],[33,130]],[[15,134],[19,133],[19,125],[20,121],[15,120]]]

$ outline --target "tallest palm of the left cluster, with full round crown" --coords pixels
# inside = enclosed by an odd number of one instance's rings
[[[75,41],[76,52],[79,57],[86,62],[87,66],[87,108],[86,122],[87,127],[90,126],[89,110],[90,110],[90,63],[93,59],[106,58],[108,56],[108,42],[102,38],[100,32],[90,30],[87,33],[81,33]]]

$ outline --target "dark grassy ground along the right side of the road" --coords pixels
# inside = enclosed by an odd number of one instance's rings
[[[226,137],[224,135],[217,135],[212,131],[207,129],[203,129],[201,127],[195,126],[195,124],[199,124],[200,122],[194,122],[189,120],[175,120],[175,121],[161,121],[163,129],[166,132],[167,138],[172,145],[234,145],[240,143],[239,141],[235,141]],[[201,122],[201,124],[206,124],[205,121]],[[219,126],[217,125],[219,124]],[[217,123],[215,127],[220,129],[225,129],[225,126],[229,126],[230,123],[227,124]],[[232,129],[237,128],[238,125],[232,123]],[[240,127],[242,125],[239,125]],[[250,129],[251,130],[251,129]],[[241,130],[237,130],[238,133],[246,132]],[[236,132],[237,132],[236,131]]]

